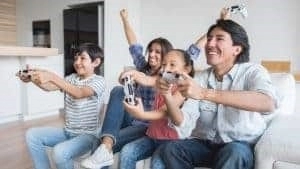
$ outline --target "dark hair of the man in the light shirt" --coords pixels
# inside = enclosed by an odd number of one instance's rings
[[[207,35],[209,35],[211,31],[217,27],[230,34],[234,46],[242,47],[242,51],[237,56],[235,63],[249,62],[250,45],[248,41],[248,35],[245,29],[232,20],[219,19],[217,20],[216,24],[212,25],[208,29]]]

